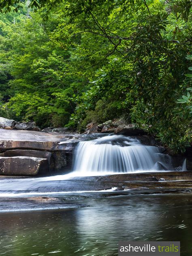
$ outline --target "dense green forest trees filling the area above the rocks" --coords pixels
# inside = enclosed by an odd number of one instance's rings
[[[192,141],[190,0],[0,0],[0,116],[45,128],[123,117]]]

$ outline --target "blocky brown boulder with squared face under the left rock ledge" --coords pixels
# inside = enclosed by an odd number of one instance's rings
[[[49,169],[46,158],[29,156],[0,157],[0,175],[37,175]]]

